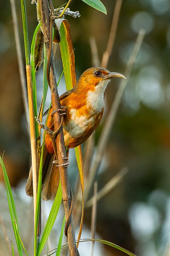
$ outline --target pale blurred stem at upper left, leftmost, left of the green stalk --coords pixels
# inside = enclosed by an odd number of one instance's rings
[[[28,110],[27,84],[25,79],[24,64],[22,61],[22,51],[21,51],[20,37],[19,37],[19,31],[18,31],[18,19],[17,19],[16,8],[15,8],[15,0],[10,0],[10,3],[11,3],[11,11],[12,11],[12,17],[13,17],[14,36],[15,36],[15,44],[16,44],[16,50],[17,50],[19,72],[20,72],[22,97],[24,102],[25,116],[27,120],[27,129],[29,130],[30,121],[29,121],[29,110]]]

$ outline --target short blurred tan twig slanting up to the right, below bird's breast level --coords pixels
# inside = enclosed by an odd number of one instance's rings
[[[114,189],[124,178],[125,174],[128,172],[128,168],[124,167],[117,175],[115,175],[105,186],[100,189],[97,193],[97,202],[107,195],[112,189]],[[91,207],[93,204],[94,196],[91,197],[85,205],[85,208]],[[92,237],[93,238],[93,237]]]

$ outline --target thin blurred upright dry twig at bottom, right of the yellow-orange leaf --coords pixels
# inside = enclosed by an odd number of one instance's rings
[[[92,206],[92,214],[91,214],[91,239],[95,239],[96,217],[97,217],[97,182],[94,183],[94,196],[93,196],[93,206]],[[93,256],[93,251],[94,251],[94,241],[91,242],[91,256]]]

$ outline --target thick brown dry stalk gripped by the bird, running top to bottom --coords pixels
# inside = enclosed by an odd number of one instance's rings
[[[60,101],[57,89],[57,81],[56,81],[56,73],[55,66],[52,54],[52,25],[55,19],[53,5],[51,0],[49,0],[49,5],[51,8],[51,16],[49,18],[49,8],[48,1],[39,0],[40,10],[41,10],[41,18],[42,18],[42,30],[44,34],[44,42],[46,47],[46,54],[48,59],[48,67],[47,67],[47,76],[49,86],[51,89],[51,100],[52,100],[52,108],[53,110],[60,109]],[[49,70],[48,70],[49,69]],[[49,73],[49,74],[48,74]],[[61,116],[58,113],[54,113],[54,127],[55,130],[59,127],[61,122]],[[76,256],[79,255],[76,247],[76,240],[74,235],[74,227],[73,227],[73,218],[72,214],[70,215],[70,207],[71,207],[71,196],[70,196],[70,184],[68,177],[68,170],[64,164],[67,164],[66,160],[66,152],[65,152],[65,142],[63,136],[63,129],[59,130],[59,133],[56,136],[56,149],[58,155],[59,162],[59,172],[60,172],[60,180],[62,186],[62,195],[63,195],[63,205],[65,209],[66,222],[69,221],[69,226],[67,230],[68,243],[69,243],[69,255]]]

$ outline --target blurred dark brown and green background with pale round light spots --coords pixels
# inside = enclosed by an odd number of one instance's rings
[[[20,1],[16,1],[23,62],[25,53],[22,32]],[[55,8],[65,0],[53,0]],[[101,61],[106,49],[115,0],[103,0],[107,16],[80,0],[73,0],[70,10],[79,10],[81,17],[65,18],[70,23],[77,79],[92,66],[90,38],[96,40]],[[37,26],[36,6],[26,1],[30,45]],[[98,175],[98,189],[102,188],[123,167],[128,173],[97,205],[96,237],[108,240],[138,256],[170,255],[170,1],[169,0],[123,0],[114,47],[108,62],[108,70],[124,74],[140,29],[145,38],[138,59],[128,79],[117,117],[104,154]],[[0,155],[14,188],[21,236],[24,235],[26,214],[30,214],[32,200],[25,196],[24,186],[30,169],[30,144],[26,128],[20,76],[15,48],[10,1],[0,2]],[[59,49],[56,54],[56,73],[59,78],[62,66]],[[41,100],[42,70],[37,73]],[[119,79],[109,84],[105,93],[104,119],[114,101]],[[64,80],[59,93],[65,92]],[[48,94],[49,96],[49,94]],[[48,103],[50,96],[48,97]],[[103,120],[104,120],[103,119]],[[104,121],[95,133],[95,143]],[[71,153],[73,155],[73,153]],[[75,186],[76,163],[72,157],[70,180]],[[13,230],[7,206],[3,173],[0,172],[0,218],[12,239]],[[50,204],[50,203],[49,203]],[[48,204],[47,204],[48,206]],[[47,207],[48,208],[48,207]],[[91,208],[84,214],[82,238],[90,237]],[[3,226],[3,225],[2,225]],[[23,230],[22,230],[23,229]],[[7,244],[0,228],[2,252],[8,255]],[[5,233],[5,231],[4,231]],[[14,239],[14,238],[13,238]],[[14,240],[13,240],[14,243]],[[29,244],[29,243],[28,243]],[[84,245],[86,249],[90,245]],[[100,247],[98,247],[100,246]],[[82,247],[83,248],[83,247]],[[80,255],[89,255],[80,249]],[[109,246],[95,243],[94,255],[125,255]]]

